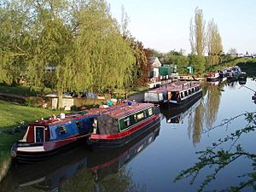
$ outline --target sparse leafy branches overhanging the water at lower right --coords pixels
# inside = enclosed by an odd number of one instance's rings
[[[241,137],[244,137],[245,134],[255,131],[256,128],[256,113],[242,113],[231,119],[225,119],[224,122],[218,126],[224,126],[230,124],[231,121],[237,119],[241,116],[245,116],[247,120],[247,125],[244,128],[236,130],[230,135],[219,138],[218,142],[212,143],[211,147],[208,147],[206,150],[197,152],[199,154],[198,162],[194,166],[189,167],[186,170],[183,170],[176,178],[175,181],[183,179],[185,177],[192,177],[190,184],[195,182],[195,178],[199,177],[200,172],[203,172],[204,169],[212,170],[203,182],[200,185],[198,191],[205,191],[207,185],[210,184],[213,180],[218,177],[220,172],[230,166],[234,161],[239,161],[241,158],[245,158],[251,162],[252,172],[242,173],[242,181],[236,186],[229,186],[226,189],[221,189],[218,191],[242,191],[243,189],[256,189],[256,154],[248,152],[245,148],[242,147],[240,143],[237,143]],[[217,126],[217,127],[218,127]],[[215,129],[217,127],[213,127]],[[212,129],[208,130],[211,131]],[[224,148],[224,143],[230,143],[230,147],[227,149]],[[208,191],[208,190],[207,190]],[[217,189],[212,189],[211,191],[217,191]]]

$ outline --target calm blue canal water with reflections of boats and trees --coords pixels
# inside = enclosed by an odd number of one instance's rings
[[[248,88],[256,90],[256,81],[204,84],[200,100],[162,108],[160,125],[127,146],[101,152],[80,146],[49,161],[12,166],[0,191],[253,191],[255,132],[237,131],[249,124],[241,114],[256,111]],[[239,153],[216,160],[218,150]],[[190,175],[181,174],[193,166]]]

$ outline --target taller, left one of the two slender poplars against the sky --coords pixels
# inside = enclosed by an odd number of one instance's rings
[[[195,23],[193,23],[193,18],[191,18],[189,27],[189,42],[191,46],[191,54],[204,55],[207,43],[205,20],[203,18],[202,10],[198,7],[195,8],[194,22]]]

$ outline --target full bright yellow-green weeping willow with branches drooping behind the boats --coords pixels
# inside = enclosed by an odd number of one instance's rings
[[[102,0],[80,3],[75,22],[71,62],[76,73],[74,87],[103,93],[129,84],[135,58],[111,17],[107,3]]]

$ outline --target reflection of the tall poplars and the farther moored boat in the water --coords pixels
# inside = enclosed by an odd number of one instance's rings
[[[188,119],[188,135],[192,137],[193,144],[200,143],[204,127],[210,129],[217,119],[218,108],[224,86],[227,82],[206,82],[202,84],[202,98],[195,98],[183,108],[161,108],[161,113],[166,117],[166,123],[183,123]],[[232,82],[231,86],[234,86]]]

